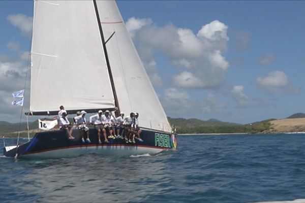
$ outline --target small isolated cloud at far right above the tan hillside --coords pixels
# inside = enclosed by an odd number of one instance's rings
[[[282,71],[273,71],[265,77],[258,77],[256,82],[262,89],[274,94],[298,92],[298,89],[293,87],[286,74]]]

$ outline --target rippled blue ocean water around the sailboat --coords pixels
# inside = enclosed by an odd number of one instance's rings
[[[305,198],[305,134],[178,136],[177,140],[177,151],[155,155],[48,160],[0,156],[0,202]]]

